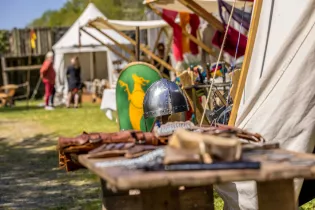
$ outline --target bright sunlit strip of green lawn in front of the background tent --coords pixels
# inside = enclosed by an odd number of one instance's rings
[[[29,108],[26,107],[25,102],[18,102],[16,107],[13,108],[0,108],[0,118],[39,122],[56,136],[72,137],[81,134],[82,131],[112,132],[118,130],[117,124],[105,117],[98,104],[87,103],[79,109],[56,108],[54,111],[46,111],[37,107],[38,103],[39,101],[31,102]],[[55,161],[57,162],[57,160]],[[84,173],[82,173],[82,176],[85,176]],[[90,175],[85,178],[97,181]],[[78,200],[77,205],[80,205],[80,203],[81,201]],[[86,209],[99,209],[100,201],[84,206],[86,206]],[[223,201],[216,193],[215,207],[216,209],[223,209]],[[60,206],[57,209],[63,208],[67,209],[67,206]],[[315,200],[300,209],[315,209]]]

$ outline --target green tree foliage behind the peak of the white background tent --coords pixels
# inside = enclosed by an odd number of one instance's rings
[[[91,0],[68,0],[59,10],[45,11],[32,21],[32,27],[70,26],[80,16]],[[144,16],[142,0],[92,0],[95,6],[109,19],[141,20]]]

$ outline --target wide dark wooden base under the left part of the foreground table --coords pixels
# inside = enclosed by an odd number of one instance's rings
[[[120,210],[214,210],[213,188],[158,187],[146,190],[113,192],[101,179],[102,209]]]

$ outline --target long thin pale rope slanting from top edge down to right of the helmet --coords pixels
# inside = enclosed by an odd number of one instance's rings
[[[216,73],[217,73],[217,70],[218,70],[219,62],[220,62],[221,57],[222,57],[222,53],[223,53],[224,45],[225,45],[225,42],[226,42],[228,30],[230,28],[230,23],[231,23],[231,20],[232,20],[232,15],[234,13],[235,3],[236,3],[236,0],[234,0],[233,7],[232,7],[232,10],[231,10],[231,14],[230,14],[230,17],[229,17],[229,21],[228,21],[226,29],[225,29],[225,34],[224,34],[222,46],[221,46],[220,53],[219,53],[219,56],[218,56],[218,60],[217,60],[216,66],[215,66],[215,70],[214,70],[213,76],[212,76],[212,82],[211,82],[210,90],[208,92],[207,100],[206,100],[205,106],[203,108],[203,113],[202,113],[202,117],[201,117],[201,121],[200,121],[200,125],[199,126],[202,125],[203,120],[205,118],[207,104],[209,103],[209,100],[210,100],[210,95],[211,95],[211,92],[212,92],[214,79],[215,79],[215,76],[216,76]]]

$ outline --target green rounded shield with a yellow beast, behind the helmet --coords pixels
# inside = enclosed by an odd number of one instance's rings
[[[152,65],[132,62],[120,73],[116,85],[116,104],[120,129],[146,131],[154,123],[154,118],[143,118],[145,92],[162,76]],[[146,124],[146,125],[145,125]]]

